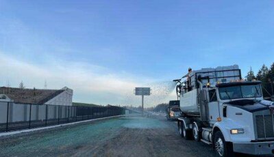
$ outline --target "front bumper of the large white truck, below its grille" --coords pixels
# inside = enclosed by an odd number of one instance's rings
[[[233,143],[234,152],[252,155],[274,154],[274,141],[254,143]]]

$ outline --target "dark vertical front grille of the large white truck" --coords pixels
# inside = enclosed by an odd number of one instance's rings
[[[274,138],[273,115],[256,115],[258,139]]]

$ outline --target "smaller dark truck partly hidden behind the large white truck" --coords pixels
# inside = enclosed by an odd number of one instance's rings
[[[169,107],[166,109],[166,119],[175,120],[180,117],[179,100],[169,101]]]

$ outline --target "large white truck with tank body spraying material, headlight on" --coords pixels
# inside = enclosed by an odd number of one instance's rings
[[[274,154],[274,103],[260,81],[242,81],[238,66],[190,71],[174,80],[179,134],[212,145],[219,156]]]

